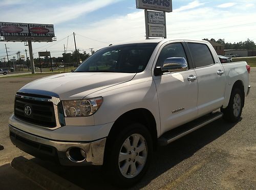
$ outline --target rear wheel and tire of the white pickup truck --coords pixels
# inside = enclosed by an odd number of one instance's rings
[[[243,110],[243,97],[242,91],[239,88],[234,88],[232,90],[228,106],[226,108],[221,108],[223,119],[225,121],[234,123],[240,120]]]

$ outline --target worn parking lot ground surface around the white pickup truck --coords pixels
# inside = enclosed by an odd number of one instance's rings
[[[5,148],[0,151],[0,171],[3,165],[22,155],[82,188],[113,189],[100,167],[56,166],[11,144],[8,118],[13,112],[15,92],[40,77],[0,78],[0,144]],[[159,147],[146,176],[133,189],[256,189],[256,68],[251,69],[250,85],[240,122],[228,124],[219,119]]]

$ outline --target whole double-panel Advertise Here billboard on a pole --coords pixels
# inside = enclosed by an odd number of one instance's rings
[[[0,35],[5,37],[54,37],[53,24],[0,22]]]

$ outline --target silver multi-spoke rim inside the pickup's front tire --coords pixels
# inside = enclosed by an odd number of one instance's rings
[[[137,176],[144,168],[147,157],[147,146],[141,134],[128,137],[119,152],[118,165],[121,174],[126,178]]]

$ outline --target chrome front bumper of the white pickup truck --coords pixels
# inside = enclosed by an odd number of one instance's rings
[[[54,141],[19,130],[9,124],[10,139],[19,149],[42,159],[59,161],[63,166],[102,165],[106,138],[92,142]],[[73,162],[67,156],[70,148],[81,148],[87,155],[82,162]]]

